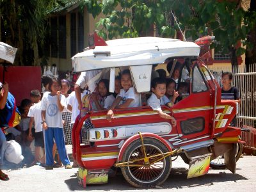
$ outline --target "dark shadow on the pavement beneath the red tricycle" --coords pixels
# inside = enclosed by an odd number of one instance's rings
[[[226,173],[227,172],[227,173]],[[170,176],[166,181],[159,186],[160,189],[182,189],[195,188],[197,186],[212,186],[214,183],[227,182],[237,180],[248,180],[239,174],[230,173],[228,170],[220,170],[220,173],[207,173],[201,177],[187,179],[188,169],[186,168],[172,168]],[[77,175],[77,174],[76,174]],[[71,191],[109,191],[109,190],[131,190],[138,191],[140,189],[133,188],[122,176],[121,173],[114,177],[108,178],[108,184],[88,185],[86,189],[78,185],[76,175],[70,176],[70,179],[65,180],[68,188]]]

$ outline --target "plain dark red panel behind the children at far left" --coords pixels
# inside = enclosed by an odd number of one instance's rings
[[[17,106],[22,99],[30,99],[31,90],[41,91],[41,67],[10,66],[6,67],[4,81],[9,84],[9,91],[14,95]],[[0,81],[3,81],[3,67],[0,67]]]

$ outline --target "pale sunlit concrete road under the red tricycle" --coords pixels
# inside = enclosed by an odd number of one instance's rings
[[[118,175],[109,177],[108,184],[77,185],[77,168],[45,170],[36,165],[20,170],[4,170],[10,177],[0,180],[0,191],[256,191],[256,157],[244,156],[237,162],[236,174],[229,170],[209,170],[207,175],[186,179],[188,164],[178,158],[166,182],[157,189],[136,189]]]

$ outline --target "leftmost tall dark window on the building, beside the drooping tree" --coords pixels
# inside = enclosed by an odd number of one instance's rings
[[[58,57],[58,19],[51,18],[51,57]]]

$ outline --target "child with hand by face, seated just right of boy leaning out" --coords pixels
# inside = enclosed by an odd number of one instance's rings
[[[179,92],[176,92],[175,88],[176,82],[170,78],[166,79],[166,93],[164,95],[164,98],[167,98],[172,105],[175,104],[176,99],[179,96]]]

